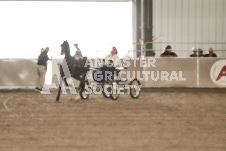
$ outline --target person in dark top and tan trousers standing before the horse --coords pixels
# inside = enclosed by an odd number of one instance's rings
[[[45,83],[45,75],[47,71],[47,61],[50,60],[47,53],[49,52],[49,47],[46,47],[45,49],[41,49],[41,54],[38,56],[38,62],[37,62],[37,73],[38,78],[36,81],[36,88],[35,90],[42,91],[42,88]]]

